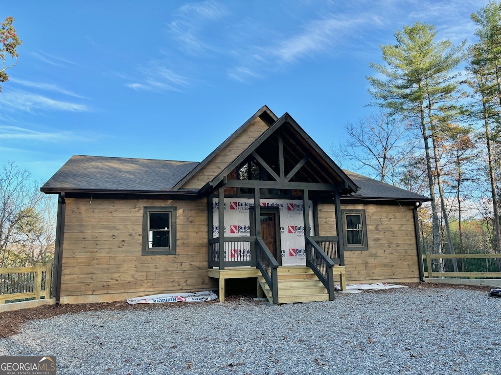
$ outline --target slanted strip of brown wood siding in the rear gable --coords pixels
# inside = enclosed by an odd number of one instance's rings
[[[202,187],[205,183],[214,178],[267,129],[268,125],[261,118],[256,118],[181,187]]]

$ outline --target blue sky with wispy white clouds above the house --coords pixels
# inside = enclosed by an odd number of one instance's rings
[[[200,161],[261,106],[329,152],[372,110],[379,44],[417,20],[474,42],[487,1],[6,1],[19,63],[0,165],[46,180],[73,154]]]

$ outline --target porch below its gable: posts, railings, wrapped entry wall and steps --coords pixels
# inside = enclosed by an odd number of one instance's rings
[[[346,289],[344,246],[339,236],[342,227],[339,193],[335,192],[329,203],[334,206],[336,225],[332,231],[336,235],[325,236],[315,235],[319,233],[318,196],[310,200],[308,189],[288,199],[284,196],[270,198],[267,188],[254,187],[253,198],[248,193],[238,195],[227,193],[228,190],[233,192],[220,186],[218,194],[209,198],[209,235],[212,238],[208,240],[208,275],[218,279],[221,302],[224,301],[225,280],[235,278],[256,278],[258,296],[265,295],[272,303],[332,300],[335,283],[339,283],[342,290]],[[295,212],[296,216],[300,213],[299,225],[281,225],[284,215],[288,216],[284,211],[287,212],[286,207],[290,205],[301,211]],[[242,212],[236,216],[244,219],[234,224],[235,219],[229,220],[230,213],[226,212],[238,207],[242,207]],[[293,234],[295,247],[289,248],[285,232],[296,229],[299,234]]]

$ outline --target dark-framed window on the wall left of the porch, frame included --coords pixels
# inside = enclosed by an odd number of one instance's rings
[[[176,207],[143,207],[143,255],[176,253]]]

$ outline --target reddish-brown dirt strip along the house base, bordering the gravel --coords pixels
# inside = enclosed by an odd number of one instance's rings
[[[480,290],[488,292],[488,286],[476,285],[457,285],[444,283],[429,283],[429,282],[401,282],[402,285],[407,285],[410,288],[416,289],[465,289],[465,290]],[[396,289],[370,290],[374,293],[392,292]],[[226,295],[226,301],[238,301],[241,298],[252,299],[253,295]],[[182,303],[182,302],[180,302]],[[159,308],[178,308],[180,303],[139,303],[131,305],[125,300],[116,302],[103,303],[79,303],[79,304],[60,304],[60,305],[44,305],[34,308],[25,308],[16,311],[0,312],[0,338],[8,337],[18,333],[23,324],[30,320],[51,318],[53,316],[78,313],[82,311],[99,311],[99,310],[140,310],[140,309],[159,309]],[[204,303],[219,303],[218,300],[208,301]]]

